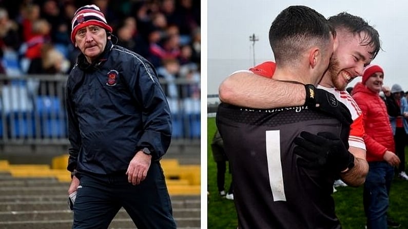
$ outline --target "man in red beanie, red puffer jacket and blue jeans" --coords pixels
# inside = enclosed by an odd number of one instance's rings
[[[394,177],[394,166],[400,159],[394,153],[394,138],[384,101],[390,88],[382,87],[384,71],[378,65],[364,69],[362,82],[353,89],[353,98],[363,113],[366,158],[370,169],[365,178],[363,204],[367,228],[387,228],[388,194]]]

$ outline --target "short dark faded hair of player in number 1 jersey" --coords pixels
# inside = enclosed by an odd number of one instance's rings
[[[296,63],[299,53],[324,46],[335,35],[327,19],[306,6],[289,6],[278,14],[269,29],[269,43],[277,64]]]

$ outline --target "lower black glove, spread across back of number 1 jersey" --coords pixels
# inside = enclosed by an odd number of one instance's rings
[[[294,143],[294,153],[301,156],[297,163],[307,169],[328,169],[336,173],[354,166],[354,155],[348,152],[335,134],[319,132],[317,135],[302,131]]]

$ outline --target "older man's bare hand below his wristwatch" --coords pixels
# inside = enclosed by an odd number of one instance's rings
[[[134,155],[126,171],[129,183],[140,184],[147,175],[151,162],[151,155],[143,153],[141,150]]]

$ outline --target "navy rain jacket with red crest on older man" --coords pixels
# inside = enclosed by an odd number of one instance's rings
[[[108,41],[89,65],[83,54],[67,81],[67,169],[112,174],[126,171],[138,150],[159,160],[171,140],[170,109],[153,66]]]

